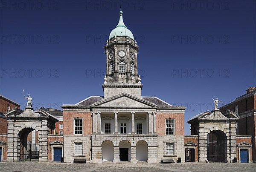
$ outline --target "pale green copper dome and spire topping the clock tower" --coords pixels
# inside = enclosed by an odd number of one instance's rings
[[[113,29],[109,35],[109,39],[111,39],[112,37],[115,36],[128,36],[131,39],[134,40],[134,36],[131,33],[131,31],[129,29],[127,29],[127,27],[125,26],[124,21],[122,20],[122,10],[120,10],[120,18],[119,18],[119,23],[117,24],[116,28]]]

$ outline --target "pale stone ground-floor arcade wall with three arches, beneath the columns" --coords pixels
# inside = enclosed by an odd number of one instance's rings
[[[113,143],[113,163],[119,162],[119,143],[127,140],[131,146],[131,163],[137,163],[136,147],[139,141],[145,141],[148,145],[148,163],[157,163],[157,135],[156,134],[92,134],[92,160],[91,163],[102,163],[102,143],[109,140]],[[183,142],[184,144],[184,142]]]

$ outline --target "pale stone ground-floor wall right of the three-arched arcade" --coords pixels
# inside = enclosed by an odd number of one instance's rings
[[[175,163],[177,162],[178,158],[181,158],[181,162],[185,162],[185,148],[183,135],[158,136],[157,143],[157,162],[160,162],[161,159],[169,158],[172,158]],[[166,155],[166,143],[174,143],[174,155]]]

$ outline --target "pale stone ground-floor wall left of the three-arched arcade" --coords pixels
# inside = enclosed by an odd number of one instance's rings
[[[82,143],[82,155],[76,155],[75,143]],[[64,162],[72,162],[75,158],[85,158],[90,161],[90,135],[63,135]]]

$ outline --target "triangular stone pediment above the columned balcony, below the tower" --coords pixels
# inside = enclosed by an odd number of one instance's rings
[[[105,100],[93,103],[92,107],[100,108],[157,108],[157,105],[139,97],[134,97],[127,93],[122,93]]]

